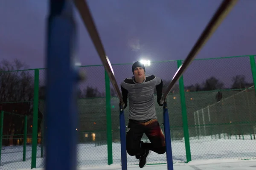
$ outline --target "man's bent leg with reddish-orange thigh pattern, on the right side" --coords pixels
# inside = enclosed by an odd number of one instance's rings
[[[142,143],[143,149],[152,150],[158,154],[166,153],[165,137],[157,119],[146,122],[145,134],[151,143]]]

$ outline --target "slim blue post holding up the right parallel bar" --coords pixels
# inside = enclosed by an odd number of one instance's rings
[[[168,108],[167,108],[166,99],[165,99],[164,102],[163,102],[163,125],[164,125],[165,141],[166,141],[166,161],[167,161],[167,169],[168,169],[168,170],[173,170],[172,143],[171,143],[169,113],[168,113]]]

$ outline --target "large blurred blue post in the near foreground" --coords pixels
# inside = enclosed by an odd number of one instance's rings
[[[72,0],[50,0],[47,28],[46,170],[75,170],[77,144],[76,24]]]

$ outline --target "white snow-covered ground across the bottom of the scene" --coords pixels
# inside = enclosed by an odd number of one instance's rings
[[[183,140],[172,141],[172,152],[175,170],[251,170],[256,168],[256,140],[251,140],[250,135],[244,136],[244,140],[236,139],[212,139],[211,136],[202,136],[200,139],[190,138],[192,161],[186,161],[186,150]],[[27,146],[26,161],[22,161],[23,146],[3,147],[1,156],[1,170],[20,170],[31,167],[31,147]],[[41,148],[37,150],[37,169],[44,168],[44,158],[41,156]],[[250,159],[250,160],[244,160]],[[138,160],[134,156],[127,155],[128,169],[137,170]],[[144,169],[167,170],[166,154],[158,155],[151,152],[148,164]],[[108,164],[107,145],[95,146],[95,144],[78,144],[78,168],[79,170],[120,170],[121,153],[120,144],[113,143],[113,164]],[[237,166],[242,167],[238,169]],[[254,168],[253,168],[254,167]],[[215,168],[215,169],[214,169]],[[235,169],[234,169],[235,170]]]

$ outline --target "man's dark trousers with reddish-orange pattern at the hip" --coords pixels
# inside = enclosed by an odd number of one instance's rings
[[[150,143],[143,142],[140,147],[143,133]],[[144,155],[145,150],[152,150],[158,154],[165,153],[165,137],[157,119],[151,119],[148,122],[129,120],[126,131],[126,150],[130,156]]]

